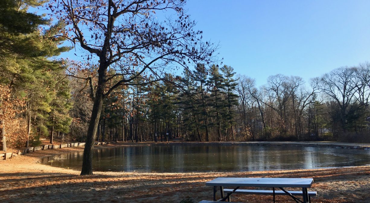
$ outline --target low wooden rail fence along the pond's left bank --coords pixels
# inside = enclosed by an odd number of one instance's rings
[[[0,160],[1,159],[7,160],[7,159],[9,159],[13,156],[19,156],[19,155],[34,152],[34,151],[37,151],[37,150],[59,149],[59,148],[64,148],[64,147],[83,147],[83,146],[85,146],[84,142],[82,142],[82,143],[81,142],[67,143],[67,144],[44,144],[44,145],[39,146],[39,147],[28,147],[28,148],[24,149],[23,151],[18,150],[17,152],[9,152],[9,153],[0,154]]]

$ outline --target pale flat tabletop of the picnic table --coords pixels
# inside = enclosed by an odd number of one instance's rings
[[[206,186],[240,187],[311,187],[312,178],[237,178],[219,177],[206,182]]]

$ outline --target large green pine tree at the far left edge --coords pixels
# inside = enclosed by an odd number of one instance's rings
[[[50,75],[60,70],[61,64],[60,61],[48,59],[69,50],[69,47],[60,47],[63,38],[54,37],[63,24],[57,23],[41,32],[38,27],[47,26],[49,20],[28,13],[30,6],[43,3],[38,0],[0,2],[0,55],[3,56],[0,59],[0,83],[9,85],[12,97],[27,100],[28,136],[31,114],[34,120],[40,121],[51,110],[49,103],[53,90],[50,84],[54,78]],[[44,122],[39,124],[39,132],[47,133]]]

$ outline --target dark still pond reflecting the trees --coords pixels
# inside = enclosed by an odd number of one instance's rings
[[[160,144],[94,150],[94,171],[211,172],[316,169],[370,164],[370,150],[323,147]],[[43,164],[81,170],[83,152]]]

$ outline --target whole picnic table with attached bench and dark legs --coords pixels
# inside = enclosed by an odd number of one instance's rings
[[[238,177],[219,177],[214,180],[206,182],[206,186],[213,186],[213,201],[230,202],[230,195],[233,193],[246,194],[273,194],[275,202],[275,194],[284,194],[292,197],[297,203],[310,203],[310,196],[316,196],[316,192],[309,193],[307,188],[311,187],[313,183],[312,178],[238,178]],[[220,188],[221,199],[216,199],[217,188]],[[233,187],[233,189],[224,189],[224,187]],[[239,190],[239,187],[272,187],[273,190]],[[300,188],[300,191],[287,191],[284,188]],[[280,190],[275,191],[275,188]],[[228,194],[225,196],[224,191]],[[303,201],[295,197],[293,194],[299,194],[303,197]],[[310,196],[309,196],[310,194]]]

